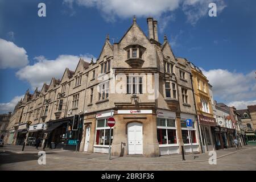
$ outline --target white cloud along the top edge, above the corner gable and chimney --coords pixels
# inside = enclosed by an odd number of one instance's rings
[[[130,18],[133,15],[160,17],[181,8],[187,16],[188,22],[193,25],[203,16],[207,16],[210,2],[217,4],[217,15],[226,7],[224,0],[63,0],[63,3],[71,9],[73,3],[79,6],[96,7],[104,19],[110,22],[114,21],[116,17]]]

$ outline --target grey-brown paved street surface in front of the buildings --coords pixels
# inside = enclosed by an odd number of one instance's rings
[[[108,154],[46,150],[46,164],[38,164],[34,147],[5,146],[0,148],[0,170],[256,170],[256,146],[240,150],[228,148],[216,151],[216,164],[209,164],[209,154],[143,156],[111,156]]]

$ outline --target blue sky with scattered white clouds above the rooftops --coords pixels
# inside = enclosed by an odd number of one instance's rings
[[[40,2],[46,3],[46,17],[38,16]],[[64,68],[73,68],[80,56],[97,57],[106,34],[117,42],[133,15],[146,35],[146,18],[158,20],[159,41],[166,34],[175,56],[204,69],[217,101],[238,109],[256,104],[256,1],[129,2],[0,0],[0,112],[12,110],[28,88],[32,92],[52,76],[61,78]],[[217,17],[208,16],[209,2],[216,2]],[[59,69],[44,72],[51,65]]]

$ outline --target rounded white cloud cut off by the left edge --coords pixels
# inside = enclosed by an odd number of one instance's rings
[[[0,39],[0,69],[21,68],[28,64],[27,52],[13,42]]]

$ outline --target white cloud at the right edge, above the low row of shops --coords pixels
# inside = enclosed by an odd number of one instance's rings
[[[203,72],[213,86],[214,96],[226,102],[256,100],[255,71],[246,75],[229,72],[226,69],[203,70]]]

